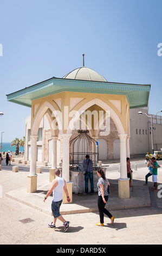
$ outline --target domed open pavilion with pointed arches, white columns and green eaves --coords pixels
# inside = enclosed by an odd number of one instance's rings
[[[7,100],[31,107],[31,156],[27,192],[37,190],[36,141],[38,127],[44,115],[48,118],[53,139],[52,168],[57,168],[57,137],[63,141],[62,176],[69,182],[69,140],[73,124],[87,111],[98,113],[98,122],[89,128],[90,136],[98,137],[98,131],[107,116],[113,119],[120,138],[120,179],[118,194],[122,199],[129,198],[126,157],[129,157],[129,108],[146,107],[150,94],[150,84],[128,84],[107,82],[96,71],[83,66],[62,78],[51,77],[46,81],[25,87],[7,95]],[[103,118],[99,112],[102,111]],[[88,123],[87,123],[88,126]],[[69,182],[68,190],[72,190]]]

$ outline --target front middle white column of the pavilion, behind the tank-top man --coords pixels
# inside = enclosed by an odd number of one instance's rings
[[[61,135],[62,143],[62,178],[69,182],[69,139],[72,136],[70,133],[64,133]]]

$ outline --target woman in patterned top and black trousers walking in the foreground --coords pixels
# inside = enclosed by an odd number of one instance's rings
[[[98,180],[98,209],[99,209],[99,215],[100,215],[100,222],[96,223],[96,225],[98,226],[103,226],[104,222],[103,222],[103,217],[104,214],[106,214],[110,219],[111,219],[111,224],[114,223],[114,216],[111,215],[111,213],[105,209],[105,205],[107,203],[108,200],[108,179],[105,177],[105,173],[103,172],[102,169],[99,169],[97,171],[98,176],[100,177]]]

